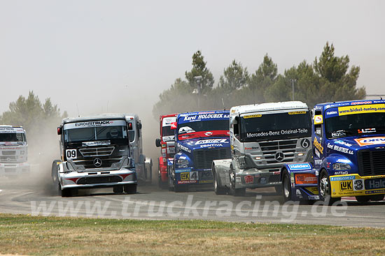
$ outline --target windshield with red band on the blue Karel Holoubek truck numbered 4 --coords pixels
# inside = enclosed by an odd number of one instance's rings
[[[229,120],[192,121],[178,124],[179,140],[208,136],[229,136]]]

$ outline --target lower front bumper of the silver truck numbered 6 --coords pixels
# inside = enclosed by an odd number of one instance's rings
[[[281,186],[281,172],[255,168],[241,169],[235,173],[235,188],[264,188]]]

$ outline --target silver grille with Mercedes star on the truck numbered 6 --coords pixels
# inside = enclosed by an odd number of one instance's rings
[[[293,162],[297,140],[278,140],[275,142],[260,142],[260,149],[267,164]],[[285,158],[278,162],[275,160],[276,151],[282,151]]]

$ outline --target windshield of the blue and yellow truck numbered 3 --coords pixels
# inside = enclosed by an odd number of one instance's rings
[[[385,133],[385,112],[346,114],[325,119],[328,139]]]

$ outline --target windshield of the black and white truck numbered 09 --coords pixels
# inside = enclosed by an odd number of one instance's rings
[[[127,142],[126,126],[99,126],[64,129],[64,142],[90,142],[94,140],[123,140]]]

